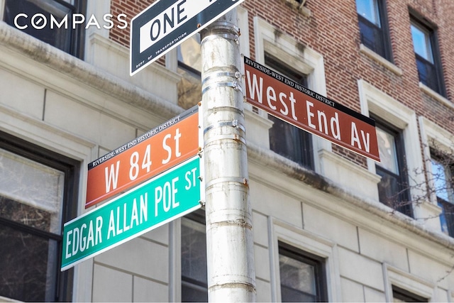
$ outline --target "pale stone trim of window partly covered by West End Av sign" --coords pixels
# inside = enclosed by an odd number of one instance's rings
[[[323,56],[292,36],[283,33],[262,18],[254,17],[255,60],[265,65],[265,51],[287,62],[296,70],[308,76],[308,86],[315,92],[326,96],[325,65]],[[265,111],[259,110],[260,116],[267,119]],[[319,150],[331,152],[331,142],[311,136],[314,146],[314,167],[319,172]]]

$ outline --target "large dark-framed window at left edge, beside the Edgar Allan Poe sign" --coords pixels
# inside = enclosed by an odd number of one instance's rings
[[[62,225],[77,207],[79,162],[0,133],[0,296],[72,299]]]

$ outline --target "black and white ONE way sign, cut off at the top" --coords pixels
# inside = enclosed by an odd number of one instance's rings
[[[245,0],[160,0],[131,21],[131,76]]]

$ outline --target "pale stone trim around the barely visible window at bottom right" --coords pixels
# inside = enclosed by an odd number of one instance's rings
[[[387,302],[393,302],[392,285],[408,290],[413,294],[427,298],[428,302],[433,301],[436,297],[436,285],[411,275],[409,272],[404,272],[391,265],[383,264],[384,276],[384,294]]]

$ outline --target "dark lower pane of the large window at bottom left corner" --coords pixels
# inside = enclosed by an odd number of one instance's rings
[[[53,301],[57,243],[0,224],[0,295],[28,302]]]

